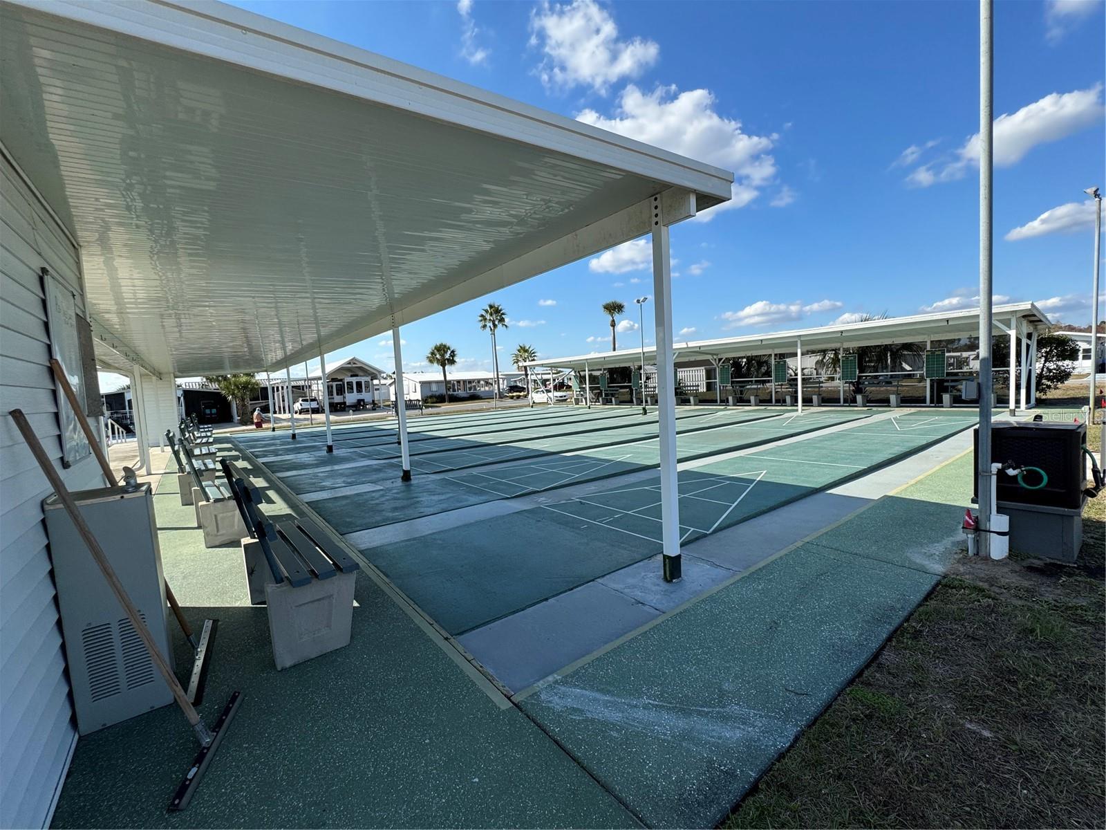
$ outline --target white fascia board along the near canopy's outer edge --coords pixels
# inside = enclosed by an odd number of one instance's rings
[[[327,89],[679,186],[717,204],[733,174],[210,0],[10,0],[41,14]],[[705,205],[709,207],[709,205]]]

